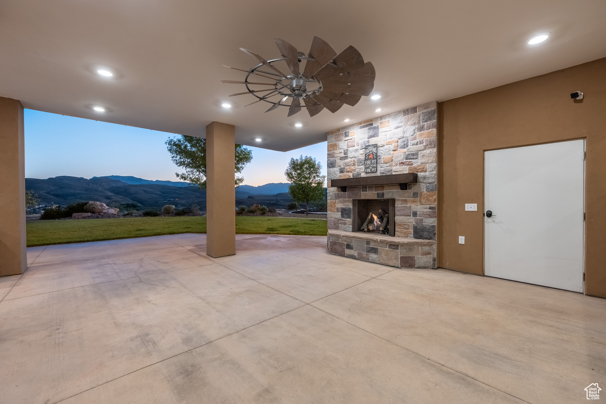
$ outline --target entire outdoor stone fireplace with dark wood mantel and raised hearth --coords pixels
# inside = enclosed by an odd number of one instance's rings
[[[436,268],[436,102],[328,134],[328,248]]]

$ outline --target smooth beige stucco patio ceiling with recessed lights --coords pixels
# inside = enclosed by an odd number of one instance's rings
[[[604,0],[3,0],[0,96],[192,136],[221,121],[236,125],[241,144],[285,151],[325,141],[345,118],[359,122],[602,58],[604,21]],[[526,44],[542,31],[551,32],[546,42]],[[222,64],[256,64],[239,47],[279,58],[273,36],[307,53],[314,35],[337,52],[358,48],[375,65],[382,98],[287,118],[287,108],[264,113],[264,102],[244,108],[255,101],[250,94],[228,97],[243,86],[219,81],[244,73]],[[118,74],[104,79],[98,66]]]

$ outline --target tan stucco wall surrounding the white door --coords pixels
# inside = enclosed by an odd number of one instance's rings
[[[582,101],[570,98],[576,90]],[[585,293],[606,297],[606,58],[441,102],[438,110],[439,267],[483,274],[485,150],[587,139]],[[477,212],[464,211],[476,202]]]

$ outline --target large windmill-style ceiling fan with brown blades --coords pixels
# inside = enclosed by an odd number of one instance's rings
[[[249,70],[224,65],[247,73],[244,81],[221,81],[246,86],[247,91],[231,94],[230,97],[253,94],[258,100],[251,104],[261,101],[269,102],[272,105],[265,112],[273,111],[281,106],[288,107],[288,116],[301,111],[301,99],[303,99],[307,112],[310,116],[314,116],[324,108],[335,113],[343,104],[356,105],[362,96],[368,96],[373,90],[375,67],[371,62],[364,63],[362,55],[353,46],[337,55],[328,42],[314,36],[309,54],[305,56],[288,42],[279,38],[273,40],[276,42],[282,58],[266,61],[256,53],[240,48],[260,63]],[[290,75],[285,75],[275,67],[274,63],[279,61],[286,63]],[[305,61],[305,68],[301,72],[299,67],[303,61]],[[261,68],[265,70],[261,70]],[[248,81],[251,75],[270,79],[273,82]],[[271,86],[271,88],[255,90],[250,88],[250,85],[265,85]],[[271,99],[276,96],[281,98]],[[290,105],[285,104],[289,98],[291,99]]]

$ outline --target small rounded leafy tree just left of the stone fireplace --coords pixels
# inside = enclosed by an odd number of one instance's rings
[[[321,175],[322,165],[315,158],[301,156],[290,159],[288,168],[284,172],[291,185],[288,193],[297,202],[305,203],[305,214],[309,214],[309,203],[324,199],[324,180]]]

